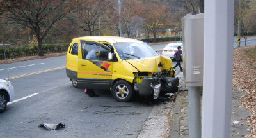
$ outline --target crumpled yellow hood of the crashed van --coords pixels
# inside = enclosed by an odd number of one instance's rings
[[[145,59],[129,59],[126,61],[136,67],[140,72],[153,73],[172,67],[172,60],[170,57],[165,56],[149,57]]]

